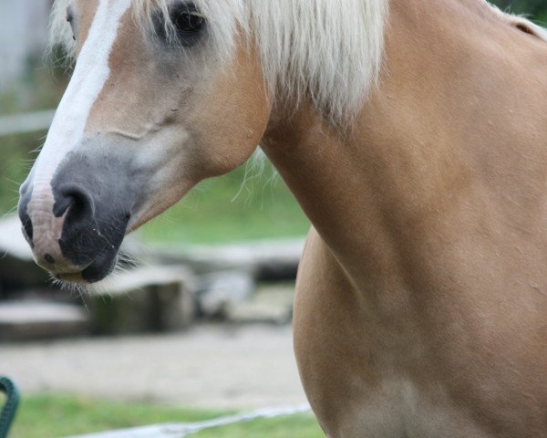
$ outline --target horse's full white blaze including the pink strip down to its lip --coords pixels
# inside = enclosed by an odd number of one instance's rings
[[[32,195],[27,214],[34,228],[35,259],[40,263],[44,255],[51,255],[62,272],[79,272],[64,260],[58,239],[64,218],[53,214],[55,203],[51,180],[68,152],[81,144],[88,116],[110,75],[108,58],[116,41],[121,17],[131,0],[100,0],[89,28],[88,38],[77,57],[74,73],[61,99],[46,144],[36,159],[29,178]]]

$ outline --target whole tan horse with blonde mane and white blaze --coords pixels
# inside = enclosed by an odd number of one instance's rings
[[[484,0],[57,0],[52,33],[77,62],[21,188],[40,266],[102,279],[261,143],[314,224],[294,344],[325,433],[547,437],[541,28]]]

